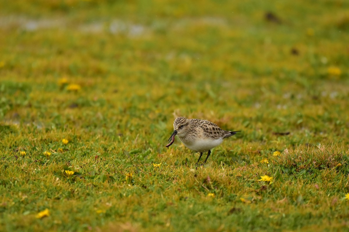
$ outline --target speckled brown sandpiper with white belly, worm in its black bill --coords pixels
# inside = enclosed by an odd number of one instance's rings
[[[200,157],[196,164],[199,163],[202,153],[207,152],[207,157],[204,161],[204,163],[206,163],[211,154],[211,149],[220,145],[223,142],[223,138],[230,137],[240,132],[222,130],[215,123],[207,120],[187,119],[184,117],[178,117],[174,120],[173,129],[174,131],[169,138],[171,142],[166,145],[166,147],[172,145],[174,136],[177,135],[180,141],[190,150],[200,152]]]

